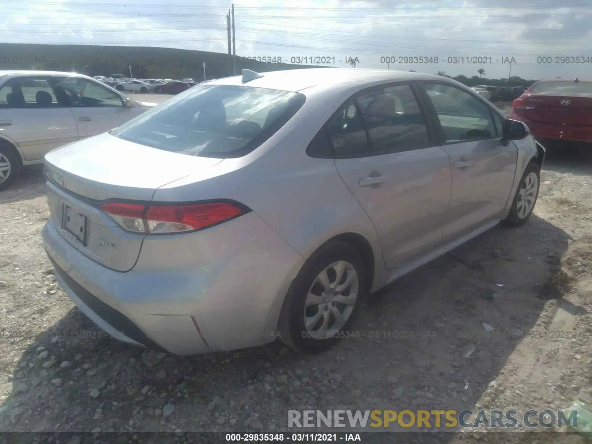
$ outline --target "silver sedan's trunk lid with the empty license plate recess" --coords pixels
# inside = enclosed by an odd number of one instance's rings
[[[151,201],[160,186],[205,173],[222,160],[154,149],[107,133],[69,144],[46,155],[50,223],[88,258],[129,271],[145,234],[123,230],[101,210],[101,202]]]

